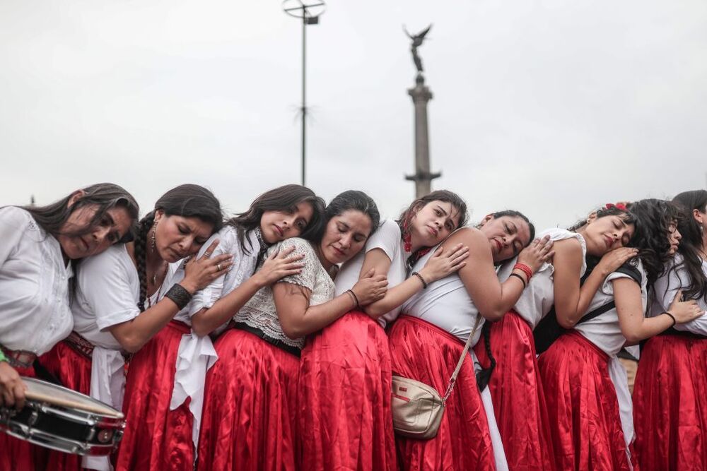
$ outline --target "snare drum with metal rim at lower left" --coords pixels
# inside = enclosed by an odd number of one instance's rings
[[[0,431],[75,455],[109,455],[122,438],[122,412],[76,391],[25,378],[22,410],[0,407]]]

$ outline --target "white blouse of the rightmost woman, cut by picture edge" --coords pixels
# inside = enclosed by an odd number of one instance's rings
[[[707,276],[707,262],[702,261],[702,271]],[[650,304],[649,316],[658,316],[667,311],[675,299],[675,294],[679,290],[684,290],[690,285],[690,277],[682,265],[682,255],[676,254],[668,264],[666,273],[653,284],[653,300]],[[701,309],[707,309],[707,300],[697,299],[697,304]],[[676,324],[677,330],[684,330],[703,337],[707,336],[707,314],[684,324]]]

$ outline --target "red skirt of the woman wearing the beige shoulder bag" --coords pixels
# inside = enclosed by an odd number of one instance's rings
[[[444,394],[464,344],[416,317],[400,316],[390,330],[394,374],[416,379]],[[403,470],[493,470],[489,422],[469,357],[447,400],[438,434],[431,440],[396,436]]]

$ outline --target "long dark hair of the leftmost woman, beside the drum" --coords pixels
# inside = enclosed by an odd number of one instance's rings
[[[21,206],[21,208],[32,215],[42,229],[48,234],[57,237],[64,236],[82,236],[90,234],[93,229],[100,224],[105,212],[112,208],[125,208],[132,220],[136,220],[140,207],[135,201],[135,198],[121,186],[112,183],[98,183],[81,189],[83,195],[69,205],[71,197],[76,194],[76,191],[69,196],[65,196],[59,201],[54,201],[45,206]],[[83,229],[74,230],[72,232],[62,232],[62,226],[66,223],[72,213],[81,208],[95,206],[97,208],[95,214],[91,218],[88,226]],[[127,242],[132,239],[132,232],[125,234],[119,243]]]

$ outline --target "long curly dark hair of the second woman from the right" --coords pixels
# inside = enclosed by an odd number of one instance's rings
[[[668,226],[682,217],[676,205],[655,198],[629,203],[627,209],[636,216],[636,232],[628,246],[638,249],[650,286],[665,273],[670,261]]]

